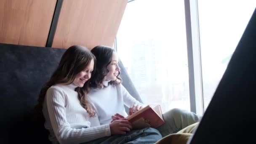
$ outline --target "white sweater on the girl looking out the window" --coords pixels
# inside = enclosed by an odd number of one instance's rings
[[[104,81],[104,85],[107,86],[108,82]],[[88,100],[98,114],[101,125],[109,124],[112,121],[112,115],[116,113],[124,117],[128,116],[124,105],[130,107],[131,104],[141,104],[121,84],[108,85],[106,88],[91,88]]]

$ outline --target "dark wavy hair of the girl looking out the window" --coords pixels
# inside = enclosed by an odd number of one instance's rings
[[[107,70],[107,66],[112,61],[112,56],[114,51],[115,51],[114,49],[107,46],[103,46],[103,45],[98,45],[91,50],[91,53],[93,53],[93,55],[97,59],[97,64],[96,64],[95,74],[92,75],[91,79],[89,80],[90,87],[93,87],[93,88],[105,87],[105,85],[103,85],[103,81],[104,81],[104,77],[109,72]],[[110,81],[109,84],[117,85],[117,84],[120,84],[121,82],[122,82],[122,79],[120,75],[118,75],[117,79]]]

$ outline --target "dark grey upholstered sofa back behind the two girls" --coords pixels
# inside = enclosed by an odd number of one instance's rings
[[[38,94],[57,67],[61,48],[46,48],[0,43],[0,122],[2,144],[48,144],[48,131],[42,117],[35,115]],[[123,85],[141,101],[123,67]]]

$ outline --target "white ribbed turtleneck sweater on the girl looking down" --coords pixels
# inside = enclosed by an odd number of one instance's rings
[[[45,128],[53,144],[79,144],[110,136],[109,125],[100,125],[98,116],[89,117],[78,99],[76,86],[53,85],[43,104]]]

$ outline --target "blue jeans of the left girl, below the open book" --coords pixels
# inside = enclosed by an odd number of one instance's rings
[[[124,135],[107,136],[83,144],[154,144],[162,138],[155,128],[132,130]]]

